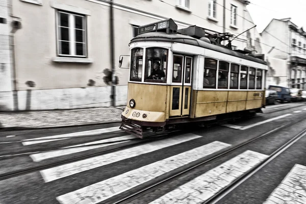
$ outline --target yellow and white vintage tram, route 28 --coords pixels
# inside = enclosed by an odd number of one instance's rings
[[[142,138],[148,127],[206,122],[265,107],[262,56],[221,45],[229,34],[208,36],[172,19],[144,25],[131,49],[127,105],[120,129]]]

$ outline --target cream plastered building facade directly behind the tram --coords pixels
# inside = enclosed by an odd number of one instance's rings
[[[0,76],[5,79],[0,111],[125,105],[129,70],[119,68],[118,61],[120,55],[130,55],[128,44],[140,25],[172,18],[178,29],[197,25],[234,35],[254,25],[246,0],[0,2],[6,11],[7,23],[0,26],[6,28],[1,34],[7,36],[3,42],[8,53],[5,60],[0,58],[6,67]],[[252,29],[232,45],[261,52],[259,36]]]

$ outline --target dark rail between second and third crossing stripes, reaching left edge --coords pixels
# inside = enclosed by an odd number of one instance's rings
[[[55,167],[55,166],[58,166],[58,165],[64,165],[64,164],[68,164],[68,163],[71,163],[71,162],[77,162],[77,161],[81,161],[81,160],[84,160],[84,159],[88,159],[88,158],[91,158],[91,157],[105,155],[105,154],[108,154],[108,153],[111,153],[111,152],[114,152],[114,151],[138,146],[140,144],[145,144],[145,143],[157,141],[157,140],[160,140],[160,139],[165,139],[165,136],[167,136],[167,138],[175,137],[180,133],[181,133],[181,131],[173,131],[173,132],[170,132],[170,133],[163,133],[163,134],[160,134],[160,135],[147,137],[147,138],[144,138],[144,139],[139,139],[138,138],[139,142],[136,142],[136,143],[133,143],[133,144],[127,144],[127,145],[120,146],[120,147],[117,147],[117,148],[112,148],[112,149],[108,149],[108,150],[94,152],[92,154],[87,154],[87,155],[84,155],[84,156],[75,157],[75,158],[67,159],[67,160],[63,160],[63,161],[57,161],[57,162],[38,165],[38,166],[34,166],[34,167],[23,168],[23,169],[15,170],[15,171],[12,171],[12,172],[2,173],[2,174],[0,174],[0,181],[10,179],[12,177],[32,173],[32,172],[35,172],[35,171],[39,171],[39,170],[43,170],[43,169],[47,169],[47,168],[52,168],[52,167]]]

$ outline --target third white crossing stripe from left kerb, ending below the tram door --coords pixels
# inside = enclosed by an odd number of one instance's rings
[[[129,149],[123,149],[121,151],[112,152],[110,154],[101,155],[98,157],[93,157],[86,160],[72,162],[69,164],[64,164],[61,166],[41,170],[40,173],[45,182],[51,182],[69,175],[73,175],[75,173],[80,173],[124,159],[136,157],[142,154],[146,154],[148,152],[156,151],[165,147],[180,144],[197,138],[201,138],[201,136],[194,134],[185,134],[174,138],[150,142]]]

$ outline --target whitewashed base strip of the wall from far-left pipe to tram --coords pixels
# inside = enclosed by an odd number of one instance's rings
[[[117,86],[116,106],[126,105],[127,86]],[[111,86],[18,91],[18,110],[55,110],[111,106]]]

